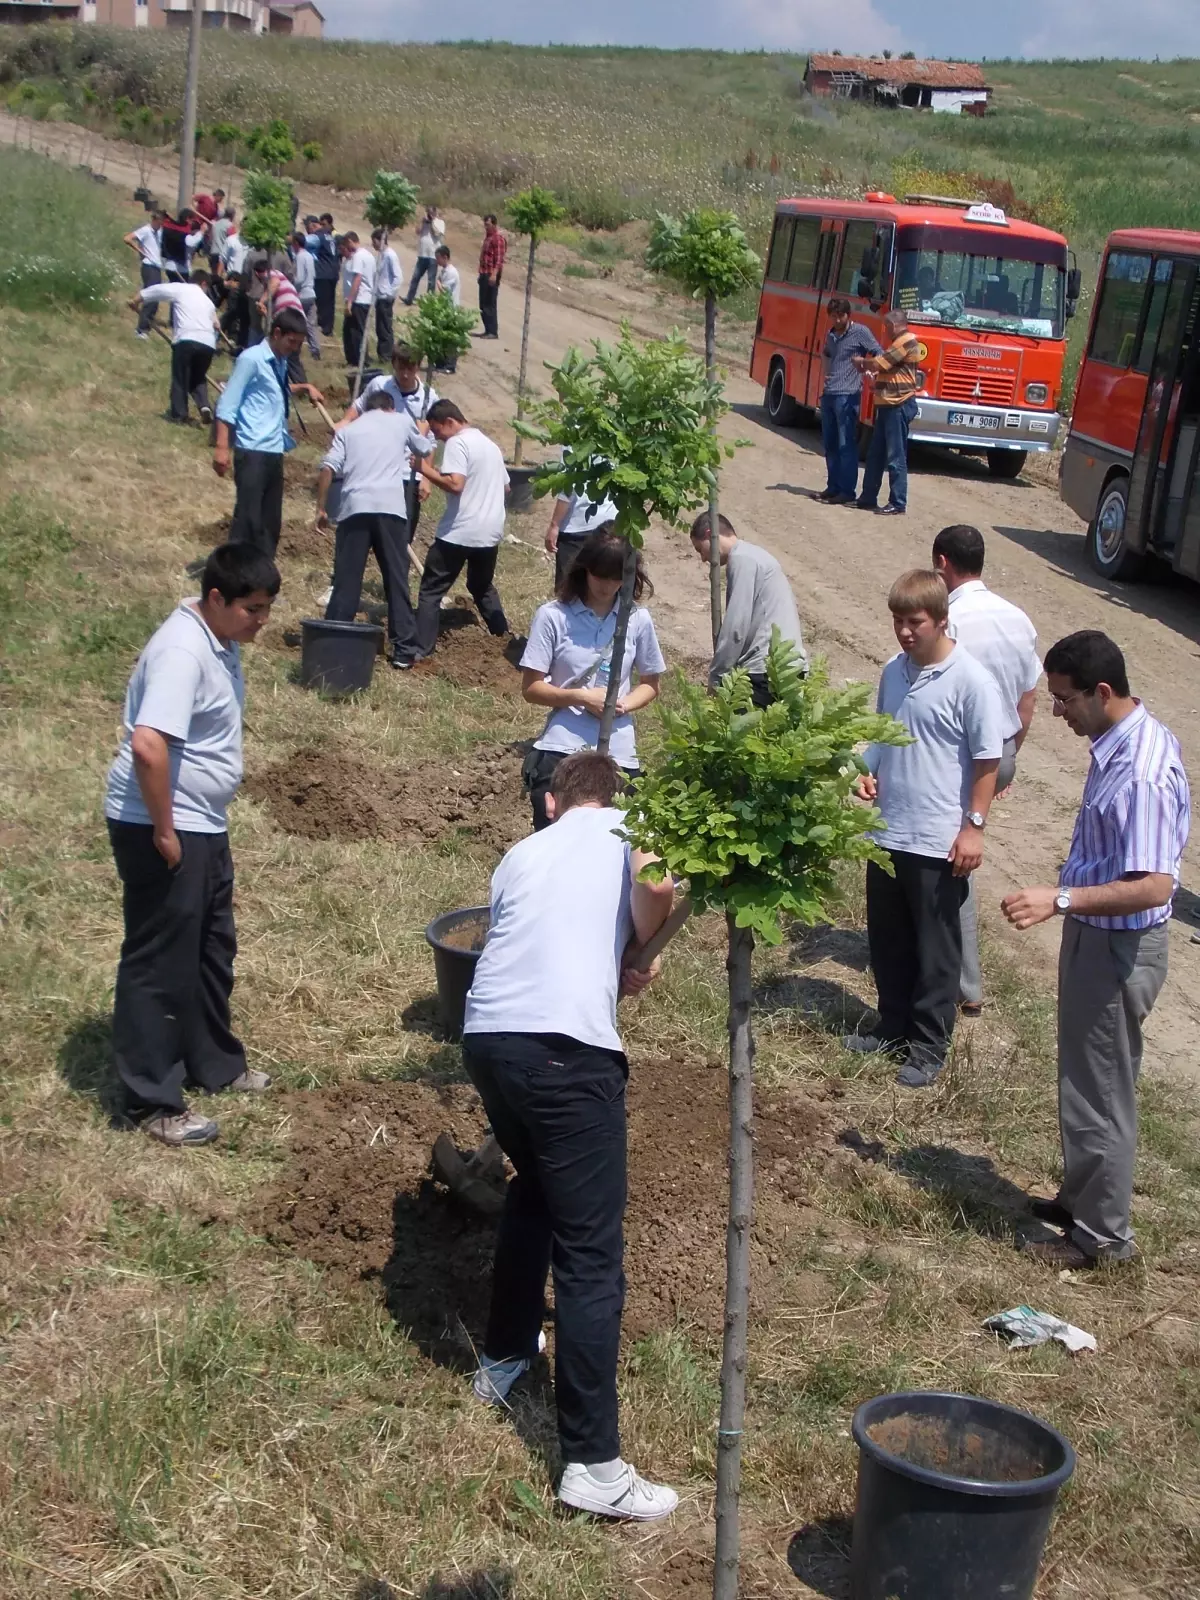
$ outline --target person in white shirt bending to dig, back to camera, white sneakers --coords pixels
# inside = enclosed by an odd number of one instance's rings
[[[552,1272],[558,1499],[656,1522],[678,1494],[621,1458],[618,1429],[629,1064],[616,1003],[650,981],[626,962],[670,915],[674,886],[642,878],[654,858],[619,837],[619,787],[610,757],[568,755],[547,797],[554,826],[514,845],[491,878],[462,1061],[517,1176],[474,1390],[507,1405],[538,1354]]]

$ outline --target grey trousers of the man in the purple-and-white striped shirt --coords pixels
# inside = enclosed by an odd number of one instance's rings
[[[1067,917],[1058,962],[1059,1205],[1090,1256],[1133,1254],[1142,1022],[1166,979],[1168,923],[1093,928]]]

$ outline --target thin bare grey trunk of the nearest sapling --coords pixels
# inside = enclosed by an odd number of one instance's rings
[[[712,1600],[738,1597],[738,1501],[746,1418],[746,1346],[750,1309],[750,1221],[754,1216],[754,1034],[750,1032],[750,955],[754,933],[730,931],[730,1226],[725,1237],[725,1344],[722,1347],[722,1419],[717,1434],[717,1555]]]

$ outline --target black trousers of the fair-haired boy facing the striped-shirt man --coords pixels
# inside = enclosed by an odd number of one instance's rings
[[[907,1046],[915,1066],[941,1066],[954,1034],[966,878],[949,861],[893,851],[896,877],[867,862],[867,942],[880,1038]]]

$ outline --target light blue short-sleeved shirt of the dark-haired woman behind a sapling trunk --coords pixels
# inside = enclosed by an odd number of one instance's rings
[[[582,600],[547,600],[538,606],[530,622],[530,638],[522,656],[522,667],[541,672],[555,688],[608,688],[616,634],[614,605],[608,616],[597,616]],[[634,606],[629,616],[626,653],[621,661],[621,694],[629,694],[634,670],[640,677],[667,670],[659,650],[650,611]],[[546,718],[541,736],[534,741],[539,750],[594,750],[600,738],[600,718],[579,706],[558,706]],[[608,754],[618,766],[637,768],[637,744],[634,718],[618,717],[613,722],[613,739]]]

